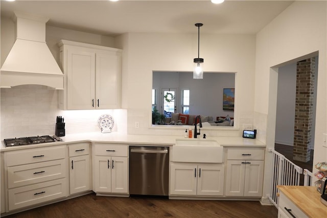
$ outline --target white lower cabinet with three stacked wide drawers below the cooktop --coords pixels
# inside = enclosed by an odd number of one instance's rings
[[[8,211],[67,196],[66,145],[6,151]]]

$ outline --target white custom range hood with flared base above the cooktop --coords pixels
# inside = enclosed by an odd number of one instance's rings
[[[63,89],[63,73],[45,42],[48,20],[15,12],[16,41],[1,68],[1,88],[38,84]]]

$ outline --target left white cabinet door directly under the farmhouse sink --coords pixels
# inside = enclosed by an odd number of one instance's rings
[[[197,164],[172,163],[170,194],[196,195]]]

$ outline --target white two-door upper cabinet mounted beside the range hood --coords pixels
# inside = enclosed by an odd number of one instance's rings
[[[120,108],[122,50],[67,40],[58,45],[64,72],[60,108]]]

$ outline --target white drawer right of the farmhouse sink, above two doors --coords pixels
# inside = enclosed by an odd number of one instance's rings
[[[265,149],[260,148],[228,148],[227,160],[264,160]]]

